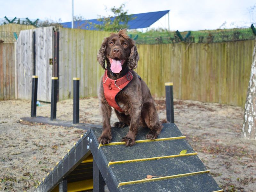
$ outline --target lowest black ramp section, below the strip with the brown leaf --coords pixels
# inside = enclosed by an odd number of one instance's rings
[[[119,187],[120,192],[212,192],[220,189],[209,173]]]

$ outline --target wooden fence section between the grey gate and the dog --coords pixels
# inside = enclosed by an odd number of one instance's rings
[[[97,52],[109,32],[60,28],[59,99],[73,97],[73,77],[80,78],[80,98],[97,96],[104,70]]]

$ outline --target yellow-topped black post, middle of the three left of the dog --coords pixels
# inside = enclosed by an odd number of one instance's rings
[[[56,120],[58,77],[52,77],[51,121]]]

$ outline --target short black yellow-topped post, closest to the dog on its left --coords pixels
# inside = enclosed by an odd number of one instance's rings
[[[73,78],[73,124],[79,123],[79,81],[80,78]]]

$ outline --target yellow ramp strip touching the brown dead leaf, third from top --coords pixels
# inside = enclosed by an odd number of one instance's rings
[[[165,176],[165,177],[158,177],[158,178],[152,178],[152,179],[143,179],[143,180],[135,180],[135,181],[127,181],[127,182],[120,182],[117,186],[119,188],[120,186],[123,185],[131,185],[131,184],[137,184],[137,183],[146,183],[146,182],[151,182],[151,181],[159,181],[159,180],[165,180],[165,179],[173,179],[173,178],[178,178],[178,177],[187,177],[191,175],[197,175],[201,173],[209,173],[210,170],[206,171],[198,171],[198,172],[192,172],[192,173],[184,173],[184,174],[178,174],[178,175],[170,175],[170,176]]]

